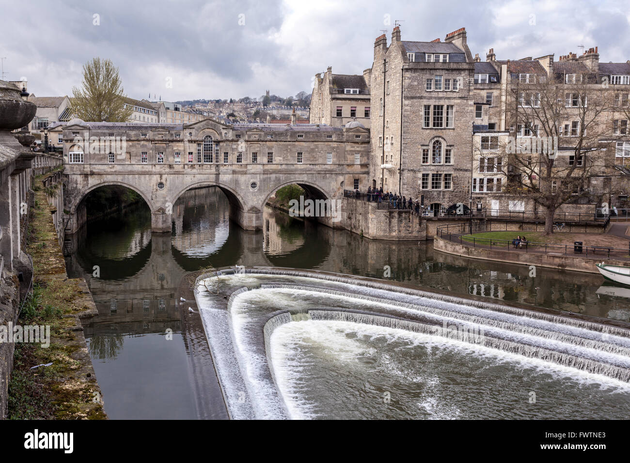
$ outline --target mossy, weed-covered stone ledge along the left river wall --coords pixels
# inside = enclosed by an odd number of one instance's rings
[[[45,174],[35,179],[42,185]],[[69,279],[44,188],[34,188],[26,253],[33,259],[33,290],[18,324],[50,326],[50,346],[17,343],[9,382],[8,418],[104,419],[100,391],[76,314],[90,309],[85,283]],[[52,363],[49,367],[36,365]]]

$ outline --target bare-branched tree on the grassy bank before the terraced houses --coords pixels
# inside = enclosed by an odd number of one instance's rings
[[[594,74],[527,74],[514,79],[507,98],[505,191],[544,209],[551,234],[556,210],[590,196],[592,178],[605,171],[611,94]]]

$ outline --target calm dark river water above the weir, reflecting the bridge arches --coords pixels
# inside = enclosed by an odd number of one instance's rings
[[[144,205],[84,227],[66,243],[71,277],[98,316],[85,327],[110,418],[226,418],[186,275],[207,266],[282,266],[389,279],[436,290],[630,321],[630,299],[595,274],[472,260],[431,242],[372,241],[265,210],[264,230],[229,222],[216,188],[186,192],[173,234],[151,234]],[[93,276],[95,266],[100,275]],[[630,296],[630,294],[627,294]]]

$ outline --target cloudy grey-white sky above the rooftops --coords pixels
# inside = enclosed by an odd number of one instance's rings
[[[360,74],[374,39],[401,20],[403,40],[465,27],[473,55],[519,59],[599,47],[630,59],[628,1],[25,0],[3,3],[4,79],[37,96],[72,94],[93,57],[120,68],[125,93],[162,100],[279,96],[311,91],[332,66]]]

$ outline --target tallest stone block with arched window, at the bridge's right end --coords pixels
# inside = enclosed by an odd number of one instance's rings
[[[466,30],[444,42],[374,43],[370,182],[420,199],[432,214],[470,196],[474,62]]]

